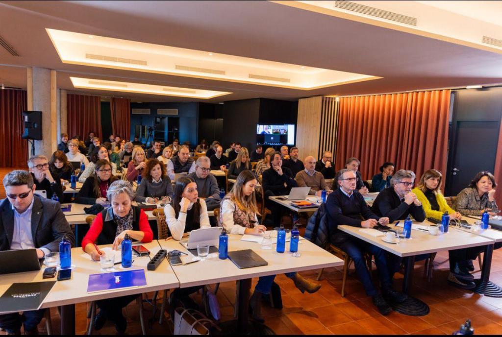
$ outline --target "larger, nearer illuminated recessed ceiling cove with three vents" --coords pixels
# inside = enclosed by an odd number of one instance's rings
[[[46,29],[63,63],[312,90],[381,77]]]

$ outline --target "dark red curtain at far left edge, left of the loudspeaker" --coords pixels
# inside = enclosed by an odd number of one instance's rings
[[[28,141],[21,139],[25,90],[0,89],[0,167],[27,167]]]

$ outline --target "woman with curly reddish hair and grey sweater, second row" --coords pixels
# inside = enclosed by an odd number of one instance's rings
[[[173,199],[173,184],[166,174],[166,165],[152,158],[147,161],[143,180],[136,190],[135,201],[156,203],[163,197]]]

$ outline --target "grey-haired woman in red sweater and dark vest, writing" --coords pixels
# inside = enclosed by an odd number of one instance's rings
[[[82,240],[82,249],[95,261],[103,252],[98,251],[94,244],[112,244],[113,249],[120,249],[124,237],[129,235],[132,240],[145,243],[152,242],[153,232],[148,223],[148,216],[136,206],[132,206],[134,193],[131,184],[118,180],[113,182],[106,193],[111,207],[104,209],[92,222],[89,231]],[[115,324],[117,332],[126,331],[127,321],[122,315],[122,308],[134,300],[138,295],[121,296],[96,301],[100,308],[94,318],[96,330],[103,327],[106,320]]]

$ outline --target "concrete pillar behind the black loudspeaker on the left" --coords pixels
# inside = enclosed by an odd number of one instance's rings
[[[58,99],[56,71],[44,68],[28,68],[28,110],[42,111],[42,140],[35,140],[35,154],[47,157],[57,149]],[[31,146],[29,146],[31,154]]]

